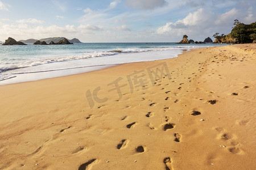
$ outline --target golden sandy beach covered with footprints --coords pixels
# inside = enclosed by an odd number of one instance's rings
[[[0,86],[0,169],[256,169],[256,45]]]

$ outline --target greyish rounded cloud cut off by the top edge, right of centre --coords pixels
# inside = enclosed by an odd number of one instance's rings
[[[165,0],[126,0],[126,4],[134,9],[152,10],[167,4]]]

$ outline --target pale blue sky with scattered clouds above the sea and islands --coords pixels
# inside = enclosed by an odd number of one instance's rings
[[[203,41],[256,22],[254,0],[0,0],[0,41],[63,36],[82,42]]]

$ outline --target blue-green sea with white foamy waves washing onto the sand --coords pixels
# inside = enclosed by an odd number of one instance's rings
[[[0,45],[0,85],[83,73],[121,63],[173,58],[185,50],[220,45],[225,44]]]

